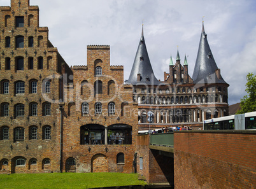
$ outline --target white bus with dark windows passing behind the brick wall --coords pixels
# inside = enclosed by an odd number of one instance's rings
[[[256,111],[204,120],[204,130],[256,129]]]

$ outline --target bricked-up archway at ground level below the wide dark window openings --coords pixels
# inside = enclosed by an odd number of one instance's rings
[[[92,172],[108,172],[108,158],[103,154],[92,157]]]

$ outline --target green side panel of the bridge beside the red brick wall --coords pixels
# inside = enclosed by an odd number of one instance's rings
[[[170,146],[174,144],[173,132],[151,134],[150,145]]]

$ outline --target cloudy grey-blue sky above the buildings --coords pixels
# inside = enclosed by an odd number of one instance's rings
[[[0,0],[10,5],[10,0]],[[155,76],[169,72],[177,46],[187,55],[192,77],[202,19],[213,57],[229,83],[229,104],[245,95],[246,74],[256,74],[255,0],[30,0],[39,6],[39,26],[69,66],[87,64],[87,45],[110,45],[111,65],[124,65],[124,80],[134,61],[144,20],[146,47]]]

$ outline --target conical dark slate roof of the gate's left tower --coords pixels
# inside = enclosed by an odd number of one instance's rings
[[[137,81],[138,74],[141,74],[140,81]],[[145,39],[143,36],[143,26],[141,39],[139,41],[139,46],[133,62],[131,74],[129,76],[129,80],[126,80],[125,83],[131,83],[132,85],[159,85],[161,83],[159,80],[157,80],[157,78],[155,78],[155,74],[153,74],[153,69],[150,64],[150,59],[148,57]]]

